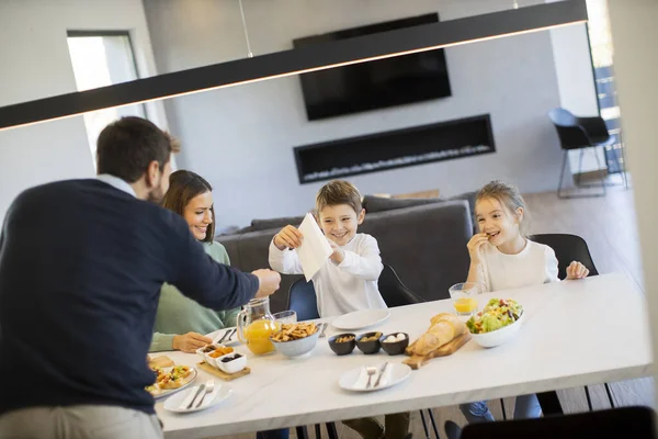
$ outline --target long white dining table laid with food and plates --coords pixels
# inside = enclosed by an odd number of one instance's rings
[[[365,356],[358,349],[339,357],[327,340],[343,330],[331,325],[327,337],[303,358],[256,357],[239,346],[236,350],[248,357],[251,373],[230,382],[216,379],[216,384],[232,390],[230,398],[184,415],[164,410],[161,401],[156,404],[164,437],[206,438],[378,416],[651,373],[646,299],[625,274],[487,293],[478,299],[480,308],[492,297],[513,299],[524,308],[523,326],[512,340],[491,349],[470,340],[452,356],[412,371],[402,383],[377,392],[344,391],[338,382],[351,369],[401,362],[406,357],[384,351]],[[432,316],[451,311],[450,300],[396,307],[387,320],[356,334],[405,331],[413,340],[427,330]],[[166,354],[181,364],[200,361],[195,354]],[[196,383],[212,378],[200,370]]]

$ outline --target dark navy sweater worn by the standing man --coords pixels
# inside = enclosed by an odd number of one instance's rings
[[[0,415],[77,404],[154,413],[146,356],[163,282],[215,309],[259,285],[213,261],[182,217],[104,182],[19,195],[0,234]]]

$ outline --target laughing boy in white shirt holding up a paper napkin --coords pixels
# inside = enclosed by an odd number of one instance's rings
[[[333,252],[314,275],[320,317],[331,317],[360,309],[385,308],[377,280],[384,269],[377,240],[358,234],[365,210],[361,194],[350,182],[333,180],[316,195],[316,219]],[[294,226],[281,229],[270,245],[270,266],[284,274],[302,274],[295,248],[304,236]],[[364,439],[404,439],[409,431],[409,413],[386,415],[385,428],[374,418],[344,420]]]

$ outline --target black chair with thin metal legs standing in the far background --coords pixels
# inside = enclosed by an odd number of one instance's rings
[[[580,184],[580,173],[582,170],[582,153],[583,148],[605,148],[606,146],[612,146],[616,142],[613,136],[608,132],[608,127],[605,126],[605,121],[601,116],[593,117],[578,117],[571,114],[568,110],[563,108],[553,109],[548,112],[548,117],[555,130],[557,131],[557,136],[559,137],[559,144],[563,154],[563,165],[559,173],[559,183],[557,185],[557,196],[560,199],[570,199],[570,198],[582,198],[582,196],[605,196],[605,170],[601,166],[601,160],[599,159],[599,155],[594,149],[594,156],[597,158],[597,165],[599,167],[599,176],[601,179],[601,192],[593,194],[571,194],[565,195],[561,192],[565,169],[567,166],[567,158],[569,155],[569,150],[580,149],[580,160],[578,175],[576,180],[576,185],[586,187]],[[622,165],[624,160],[622,160]],[[624,165],[625,166],[625,165]],[[622,169],[622,175],[625,179],[626,172],[625,169]]]

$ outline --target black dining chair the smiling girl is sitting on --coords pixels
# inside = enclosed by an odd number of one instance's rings
[[[555,251],[555,257],[557,258],[558,278],[560,280],[567,278],[567,267],[569,267],[569,263],[575,260],[581,262],[590,271],[589,275],[599,274],[587,243],[580,236],[569,234],[540,234],[532,235],[530,239],[538,244],[544,244]],[[612,398],[610,385],[604,383],[604,386],[610,406],[614,407],[614,399]],[[587,405],[591,412],[592,401],[588,386],[585,386],[585,395],[587,397]],[[557,393],[544,392],[537,394],[537,398],[540,399],[544,414],[563,413],[557,398]]]

